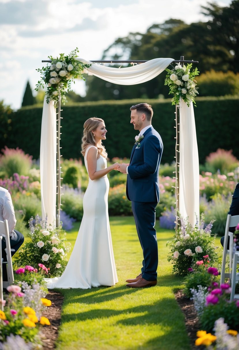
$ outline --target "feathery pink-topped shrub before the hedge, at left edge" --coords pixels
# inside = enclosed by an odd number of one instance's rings
[[[6,177],[11,177],[14,173],[28,175],[32,165],[32,156],[25,154],[18,147],[13,149],[5,146],[1,151],[0,171],[5,173]]]

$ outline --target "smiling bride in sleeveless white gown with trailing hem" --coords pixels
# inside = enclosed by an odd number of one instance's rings
[[[118,163],[107,167],[104,121],[89,118],[84,123],[81,153],[89,175],[83,198],[83,218],[75,246],[60,278],[45,279],[47,288],[82,288],[114,286],[118,282],[112,248],[107,174],[117,170]]]

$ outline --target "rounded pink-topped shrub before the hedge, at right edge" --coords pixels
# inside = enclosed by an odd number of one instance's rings
[[[238,159],[232,154],[232,150],[218,148],[216,152],[206,157],[206,167],[212,169],[213,173],[226,174],[239,166]]]

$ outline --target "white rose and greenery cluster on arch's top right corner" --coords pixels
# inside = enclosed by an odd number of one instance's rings
[[[179,104],[180,97],[185,101],[187,106],[193,102],[196,106],[194,97],[197,96],[197,82],[194,79],[195,76],[199,75],[197,68],[191,71],[192,63],[185,65],[176,65],[173,69],[166,68],[166,78],[164,85],[169,86],[169,94],[173,94],[172,105]]]

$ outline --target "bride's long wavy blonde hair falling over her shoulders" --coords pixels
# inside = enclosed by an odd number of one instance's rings
[[[84,122],[84,131],[83,131],[83,137],[81,139],[81,154],[84,156],[86,153],[86,148],[88,145],[95,145],[95,139],[93,137],[92,131],[96,130],[100,122],[104,123],[104,120],[101,118],[89,118]],[[101,144],[101,146],[96,146],[98,148],[98,151],[100,155],[102,155],[104,158],[107,158],[107,152],[104,148],[104,146]]]

